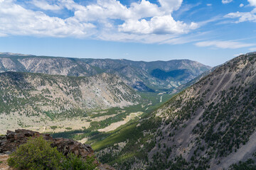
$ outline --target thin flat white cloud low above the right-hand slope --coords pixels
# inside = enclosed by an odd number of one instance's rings
[[[238,49],[242,47],[252,47],[255,46],[255,44],[249,44],[249,43],[242,43],[237,41],[221,41],[221,40],[215,40],[215,41],[201,41],[196,42],[195,44],[198,47],[218,47],[222,49]]]

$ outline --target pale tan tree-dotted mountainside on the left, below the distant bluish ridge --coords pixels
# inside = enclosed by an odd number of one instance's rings
[[[85,117],[87,111],[132,106],[141,96],[112,74],[92,77],[5,72],[0,74],[0,130],[55,119]]]

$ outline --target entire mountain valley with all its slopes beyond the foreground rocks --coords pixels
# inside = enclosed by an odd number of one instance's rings
[[[1,57],[26,65],[0,74],[1,134],[23,128],[77,140],[116,169],[233,169],[254,159],[255,53],[196,74],[183,69],[183,60],[178,69],[156,69],[159,62],[146,68],[127,60],[67,59],[97,67],[85,74],[79,65],[84,74],[75,75],[66,66],[60,71],[63,63],[58,72],[45,65],[63,58]],[[34,60],[38,67],[28,70]]]

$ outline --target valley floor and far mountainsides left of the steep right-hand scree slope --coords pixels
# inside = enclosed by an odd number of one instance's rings
[[[160,68],[166,74],[151,74]],[[0,134],[115,130],[150,113],[210,67],[189,60],[133,62],[0,54]],[[186,73],[184,72],[186,70]]]

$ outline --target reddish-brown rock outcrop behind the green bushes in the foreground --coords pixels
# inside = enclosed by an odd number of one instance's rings
[[[65,156],[72,152],[82,159],[87,157],[94,157],[94,151],[90,145],[84,145],[75,140],[69,140],[64,138],[53,138],[49,134],[41,134],[31,130],[15,130],[15,132],[7,130],[5,136],[0,136],[0,154],[10,154],[14,152],[16,148],[27,142],[28,137],[43,136],[44,140],[50,141],[51,147],[57,147],[59,152],[62,152]],[[113,169],[108,165],[102,165],[95,159],[95,163],[98,164],[98,169]]]

